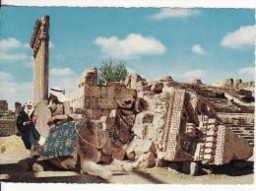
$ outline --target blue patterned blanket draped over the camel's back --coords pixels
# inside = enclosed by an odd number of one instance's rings
[[[37,160],[74,156],[78,139],[76,131],[79,130],[81,124],[81,121],[70,121],[51,128]]]

